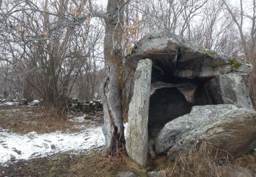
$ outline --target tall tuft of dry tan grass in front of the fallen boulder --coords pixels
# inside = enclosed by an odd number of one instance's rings
[[[253,176],[255,162],[252,155],[234,159],[225,150],[200,142],[180,154],[167,171],[169,176]]]

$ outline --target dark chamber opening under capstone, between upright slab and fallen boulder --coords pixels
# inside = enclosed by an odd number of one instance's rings
[[[152,61],[148,131],[149,138],[153,140],[169,121],[190,113],[195,105],[208,104],[207,101],[195,103],[194,93],[197,93],[196,97],[201,97],[199,92],[195,91],[200,88],[200,92],[203,92],[203,84],[210,78],[180,78],[175,76],[175,66],[163,60]]]

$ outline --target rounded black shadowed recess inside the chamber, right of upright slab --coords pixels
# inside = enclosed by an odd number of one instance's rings
[[[158,89],[150,97],[149,129],[154,127],[159,131],[174,118],[188,114],[191,108],[192,103],[177,88]]]

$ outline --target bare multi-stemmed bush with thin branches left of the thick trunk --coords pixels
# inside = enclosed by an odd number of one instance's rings
[[[32,86],[46,107],[63,114],[74,82],[96,47],[91,44],[99,40],[90,36],[85,1],[10,0],[5,6],[0,42],[12,55],[3,54],[1,59],[20,63],[23,87]]]

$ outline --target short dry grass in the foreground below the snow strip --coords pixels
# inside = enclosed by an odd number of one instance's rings
[[[3,176],[116,176],[119,172],[134,172],[145,176],[145,170],[128,158],[124,150],[115,157],[101,157],[96,151],[90,155],[61,153],[1,167]],[[1,176],[1,174],[0,174]]]

